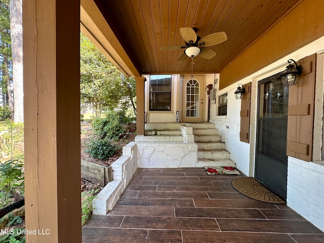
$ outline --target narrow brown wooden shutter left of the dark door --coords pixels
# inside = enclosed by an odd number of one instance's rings
[[[239,140],[246,143],[250,142],[251,85],[250,82],[242,86],[245,88],[245,93],[241,99]]]

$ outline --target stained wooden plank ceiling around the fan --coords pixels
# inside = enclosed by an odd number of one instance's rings
[[[95,0],[139,73],[191,73],[191,59],[178,62],[185,45],[179,29],[197,28],[204,37],[224,31],[227,41],[210,47],[212,59],[193,59],[194,73],[218,73],[300,0]],[[265,47],[266,48],[266,47]],[[253,58],[253,57],[251,57]]]

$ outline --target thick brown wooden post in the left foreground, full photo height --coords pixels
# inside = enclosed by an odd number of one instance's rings
[[[23,1],[28,242],[81,242],[80,2]]]

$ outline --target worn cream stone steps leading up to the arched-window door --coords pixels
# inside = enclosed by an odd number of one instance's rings
[[[234,166],[230,153],[225,150],[225,143],[212,123],[186,124],[192,127],[194,141],[198,145],[198,161],[201,166]]]

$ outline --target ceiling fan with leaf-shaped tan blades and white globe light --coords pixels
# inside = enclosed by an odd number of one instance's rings
[[[227,39],[225,32],[216,32],[200,38],[196,35],[196,28],[190,27],[180,28],[180,34],[185,41],[185,46],[169,46],[161,48],[161,51],[184,49],[184,52],[178,58],[179,62],[183,62],[187,60],[188,57],[193,58],[197,55],[202,58],[211,59],[216,55],[216,53],[208,47],[220,44]]]

